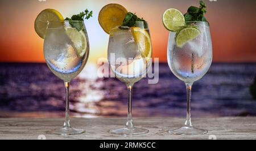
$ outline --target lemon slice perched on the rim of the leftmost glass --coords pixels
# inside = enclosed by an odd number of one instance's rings
[[[41,38],[46,36],[46,29],[48,21],[64,20],[60,12],[53,9],[46,9],[41,11],[35,19],[35,31]]]

